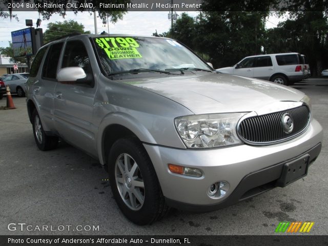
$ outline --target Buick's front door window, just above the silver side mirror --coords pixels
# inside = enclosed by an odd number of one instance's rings
[[[92,73],[87,49],[83,42],[78,40],[67,42],[61,68],[67,67],[80,67],[86,74]]]

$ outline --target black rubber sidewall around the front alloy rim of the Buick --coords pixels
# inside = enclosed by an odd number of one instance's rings
[[[141,144],[139,144],[138,146],[137,142],[131,139],[119,139],[114,143],[113,147],[111,148],[108,162],[110,185],[119,209],[125,214],[127,218],[129,218],[134,223],[140,225],[151,223],[155,218],[156,211],[158,210],[156,208],[156,204],[158,203],[158,198],[156,197],[156,194],[158,194],[159,189],[157,177],[155,179],[152,176],[156,175],[155,170],[152,166],[149,157],[142,153],[142,148],[143,147],[141,146]],[[137,211],[131,210],[129,207],[127,207],[117,189],[115,179],[115,162],[117,157],[122,153],[129,154],[136,161],[141,172],[142,179],[144,180],[145,200],[141,209]]]

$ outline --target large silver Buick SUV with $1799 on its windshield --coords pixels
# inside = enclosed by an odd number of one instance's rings
[[[38,148],[60,137],[98,159],[137,224],[289,185],[321,150],[302,92],[218,73],[169,38],[56,40],[38,51],[26,96]]]

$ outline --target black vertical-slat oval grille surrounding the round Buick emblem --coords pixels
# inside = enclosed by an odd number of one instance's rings
[[[290,133],[286,133],[282,128],[281,117],[285,113],[288,113],[293,119],[294,128]],[[310,110],[303,105],[280,112],[245,118],[238,126],[238,135],[248,144],[272,144],[296,137],[308,127],[309,121]]]

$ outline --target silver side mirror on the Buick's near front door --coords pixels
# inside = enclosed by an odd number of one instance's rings
[[[60,83],[67,84],[87,84],[84,83],[84,78],[87,78],[87,74],[80,67],[68,67],[59,69],[57,72],[57,80]],[[78,80],[78,81],[77,81]],[[88,81],[89,84],[89,81]]]

